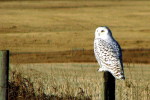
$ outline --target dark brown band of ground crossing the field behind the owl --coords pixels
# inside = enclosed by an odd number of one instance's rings
[[[123,50],[123,62],[150,63],[150,50]],[[11,53],[11,63],[96,62],[93,50]]]

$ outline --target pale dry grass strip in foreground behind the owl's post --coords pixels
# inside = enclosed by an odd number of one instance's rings
[[[101,100],[102,73],[98,73],[97,68],[94,63],[13,64],[10,82],[12,72],[17,71],[23,78],[30,79],[36,95],[41,94],[40,89],[45,96]],[[149,100],[149,70],[149,65],[125,65],[126,80],[116,81],[117,100]]]

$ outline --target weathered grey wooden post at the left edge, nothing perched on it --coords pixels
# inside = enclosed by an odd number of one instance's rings
[[[0,51],[0,100],[8,99],[9,51]]]

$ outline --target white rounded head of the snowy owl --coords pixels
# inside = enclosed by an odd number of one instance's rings
[[[95,30],[95,38],[105,39],[107,37],[112,37],[112,33],[108,27],[102,26]]]

